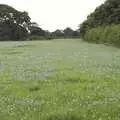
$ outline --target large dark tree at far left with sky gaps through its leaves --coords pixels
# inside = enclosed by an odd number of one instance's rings
[[[28,35],[30,17],[11,6],[0,4],[0,40],[21,40]]]

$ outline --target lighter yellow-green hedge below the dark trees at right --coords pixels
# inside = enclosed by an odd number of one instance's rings
[[[120,46],[120,25],[93,28],[86,33],[84,39],[88,42]]]

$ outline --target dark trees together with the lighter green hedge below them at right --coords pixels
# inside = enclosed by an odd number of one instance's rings
[[[106,0],[80,25],[81,37],[120,47],[120,0]]]

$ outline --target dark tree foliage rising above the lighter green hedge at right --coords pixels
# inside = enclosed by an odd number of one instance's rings
[[[111,24],[120,24],[119,0],[107,0],[104,4],[97,7],[96,10],[87,17],[87,20],[80,25],[81,36],[84,36],[91,28]]]

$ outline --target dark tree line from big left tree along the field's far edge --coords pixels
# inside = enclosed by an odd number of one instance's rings
[[[66,28],[49,32],[39,27],[36,22],[31,22],[27,12],[0,4],[0,40],[34,40],[79,37],[79,30]]]

